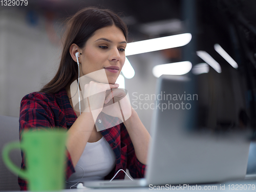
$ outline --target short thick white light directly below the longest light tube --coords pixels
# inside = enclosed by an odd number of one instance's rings
[[[191,68],[192,63],[190,61],[182,61],[157,65],[153,68],[152,72],[155,77],[160,77],[161,75],[184,75]]]

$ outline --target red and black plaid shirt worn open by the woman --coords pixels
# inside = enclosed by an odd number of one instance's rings
[[[65,89],[60,90],[56,94],[46,94],[34,92],[26,95],[20,103],[19,114],[19,136],[28,129],[40,129],[36,127],[60,127],[68,130],[77,119],[77,116],[70,104],[67,92]],[[100,121],[98,121],[100,119]],[[119,121],[101,113],[98,116],[97,126],[108,126],[108,123],[113,124],[113,121]],[[117,123],[118,124],[118,123]],[[109,129],[100,131],[103,137],[108,141],[116,156],[116,167],[112,172],[105,177],[111,179],[119,169],[129,169],[133,178],[142,178],[145,174],[146,165],[140,163],[136,158],[133,143],[123,123],[118,124]],[[67,151],[67,168],[66,179],[74,172],[74,166],[71,161],[69,152]],[[24,163],[24,154],[22,153],[22,169],[26,168]],[[119,172],[115,179],[123,179],[125,174]],[[27,190],[27,181],[18,178],[20,189]]]

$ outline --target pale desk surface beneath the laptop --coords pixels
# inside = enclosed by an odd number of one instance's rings
[[[185,185],[186,186],[186,185]],[[131,187],[131,188],[100,188],[100,189],[92,189],[92,188],[84,188],[84,189],[65,189],[62,192],[103,192],[103,191],[121,191],[121,192],[130,192],[130,191],[153,191],[153,190],[169,190],[169,191],[256,191],[256,179],[253,180],[243,180],[243,181],[229,181],[223,183],[215,183],[215,184],[201,184],[201,185],[189,185],[184,187],[183,185],[174,185],[170,187],[162,186],[152,187]],[[175,187],[175,188],[174,188]]]

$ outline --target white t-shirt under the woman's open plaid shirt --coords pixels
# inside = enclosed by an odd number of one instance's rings
[[[97,142],[86,144],[77,165],[76,172],[70,176],[68,182],[75,184],[78,181],[103,180],[115,167],[116,156],[109,143],[102,137]]]

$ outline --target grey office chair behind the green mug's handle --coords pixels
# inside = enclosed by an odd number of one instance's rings
[[[5,144],[19,140],[18,117],[0,115],[0,191],[20,190],[18,176],[5,165],[2,158],[2,151]],[[20,150],[13,150],[10,153],[12,162],[20,167],[22,156]]]

